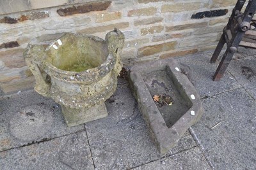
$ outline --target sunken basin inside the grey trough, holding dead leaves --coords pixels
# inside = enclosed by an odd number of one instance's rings
[[[152,97],[155,95],[172,97],[172,104],[157,106],[166,126],[172,127],[191,108],[191,103],[180,94],[179,87],[173,83],[172,75],[166,73],[166,68],[142,74],[142,77]]]

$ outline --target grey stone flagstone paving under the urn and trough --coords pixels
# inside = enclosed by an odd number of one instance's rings
[[[249,54],[236,53],[219,82],[212,81],[212,53],[177,58],[205,113],[165,155],[157,152],[125,78],[106,101],[108,117],[72,128],[58,104],[33,90],[1,96],[0,167],[256,169],[256,71],[255,55]]]

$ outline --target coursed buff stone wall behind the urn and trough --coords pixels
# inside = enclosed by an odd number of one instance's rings
[[[122,60],[131,65],[213,50],[236,4],[236,0],[0,2],[2,94],[33,87],[35,80],[22,56],[33,38],[51,38],[58,32],[104,38],[118,27],[125,34]]]

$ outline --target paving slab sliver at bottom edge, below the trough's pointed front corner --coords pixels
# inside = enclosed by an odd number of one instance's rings
[[[211,169],[198,147],[150,162],[133,170],[146,169]]]

